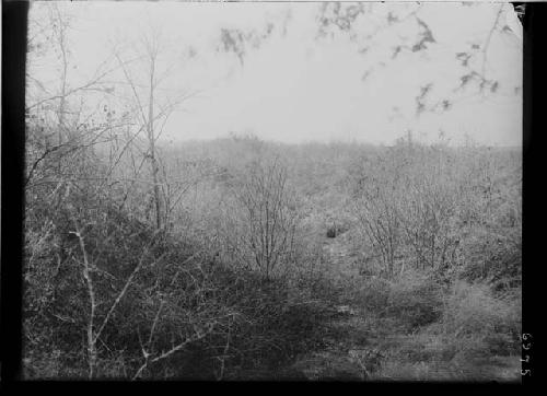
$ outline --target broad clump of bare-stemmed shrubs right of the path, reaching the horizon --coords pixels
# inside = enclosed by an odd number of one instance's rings
[[[409,139],[362,158],[351,173],[354,214],[380,275],[394,279],[411,266],[452,281],[476,229],[517,246],[521,188],[511,155]]]

